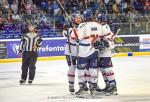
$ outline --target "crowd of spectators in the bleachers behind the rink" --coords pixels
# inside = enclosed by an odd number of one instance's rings
[[[68,14],[90,8],[95,15],[105,13],[114,23],[148,22],[149,0],[59,0]],[[138,15],[138,16],[135,16]],[[132,19],[131,19],[132,18]],[[0,35],[20,37],[28,23],[34,22],[44,37],[56,36],[65,17],[57,0],[0,0]],[[19,36],[18,36],[19,35]],[[5,38],[5,36],[3,36]],[[3,38],[0,36],[0,39]],[[6,36],[11,38],[11,36]]]

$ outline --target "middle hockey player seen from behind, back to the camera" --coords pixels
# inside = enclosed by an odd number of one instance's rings
[[[81,23],[78,27],[78,40],[79,40],[79,53],[77,60],[77,72],[79,81],[79,91],[76,92],[77,95],[82,95],[85,93],[85,69],[89,68],[90,72],[90,92],[95,95],[97,89],[97,57],[98,52],[93,47],[93,43],[100,36],[109,34],[109,30],[103,29],[97,22],[94,21],[92,11],[86,10],[83,13],[85,22]]]

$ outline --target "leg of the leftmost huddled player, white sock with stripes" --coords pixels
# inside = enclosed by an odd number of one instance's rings
[[[76,70],[76,59],[70,58],[71,56],[66,55],[66,60],[68,64],[68,83],[69,83],[69,91],[72,93],[75,91],[74,82],[75,82],[75,70]]]

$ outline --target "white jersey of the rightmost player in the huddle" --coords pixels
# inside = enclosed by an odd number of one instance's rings
[[[108,24],[102,25],[102,27],[103,27],[103,29],[108,29],[111,32]],[[112,37],[113,37],[113,33],[103,37],[104,40],[108,41],[109,47],[106,47],[103,50],[100,50],[99,57],[111,57],[112,56],[111,49],[114,48],[114,41],[113,41]]]

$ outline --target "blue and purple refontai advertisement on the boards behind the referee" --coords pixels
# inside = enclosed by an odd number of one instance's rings
[[[42,46],[38,49],[39,56],[62,56],[65,50],[65,39],[43,40]],[[19,58],[19,41],[7,42],[7,58]]]

